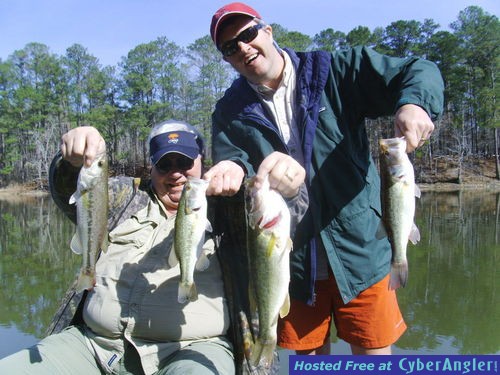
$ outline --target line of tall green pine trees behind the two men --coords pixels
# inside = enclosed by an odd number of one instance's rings
[[[347,34],[329,28],[312,37],[272,27],[281,47],[298,51],[368,45],[391,56],[434,61],[445,81],[445,111],[415,163],[494,157],[499,178],[495,15],[467,7],[450,31],[432,19],[398,20],[373,30],[358,26]],[[210,144],[211,113],[235,76],[209,35],[185,48],[161,36],[139,44],[116,66],[102,66],[80,44],[59,56],[44,44],[28,43],[0,59],[0,186],[44,186],[61,135],[76,126],[99,129],[115,173],[137,175],[147,168],[147,135],[166,119],[193,124]],[[367,120],[367,129],[375,147],[378,137],[391,136],[391,119]]]

